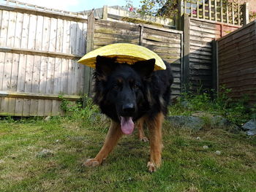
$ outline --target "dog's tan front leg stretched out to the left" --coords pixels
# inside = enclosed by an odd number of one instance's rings
[[[118,139],[121,137],[121,127],[120,123],[116,123],[111,120],[110,128],[108,130],[107,137],[105,139],[104,145],[95,158],[89,158],[84,165],[85,166],[98,166],[102,164],[102,161],[107,158],[108,154],[116,146]]]

